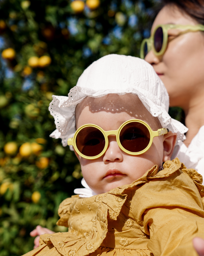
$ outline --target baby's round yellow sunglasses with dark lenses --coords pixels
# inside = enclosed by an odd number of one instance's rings
[[[150,126],[138,119],[124,122],[118,130],[104,131],[98,125],[82,125],[67,143],[85,159],[97,159],[102,156],[109,145],[109,135],[115,135],[118,146],[130,155],[140,155],[149,150],[153,138],[167,134],[166,128],[153,131]]]

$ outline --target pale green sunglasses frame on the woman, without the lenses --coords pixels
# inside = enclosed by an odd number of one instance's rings
[[[157,52],[154,47],[154,36],[155,32],[158,29],[158,27],[162,28],[163,31],[163,42],[162,42],[162,49]],[[147,45],[147,51],[150,52],[151,50],[153,51],[153,54],[155,56],[161,56],[164,54],[167,48],[168,44],[168,31],[169,29],[184,29],[185,31],[182,32],[181,34],[187,33],[187,32],[192,32],[192,31],[204,31],[204,25],[198,24],[198,25],[178,25],[178,24],[161,24],[157,25],[155,29],[153,30],[153,33],[149,38],[143,39],[140,47],[140,58],[144,59],[144,44],[146,43]],[[180,34],[179,34],[180,35]],[[179,36],[178,35],[178,36]]]

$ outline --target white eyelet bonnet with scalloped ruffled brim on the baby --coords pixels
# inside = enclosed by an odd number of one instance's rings
[[[138,95],[163,128],[177,133],[177,142],[184,140],[188,129],[169,116],[169,95],[153,67],[142,59],[117,54],[106,55],[86,68],[68,97],[53,95],[49,111],[55,118],[56,130],[50,136],[61,138],[62,145],[67,146],[68,138],[76,131],[76,105],[87,96],[102,97],[109,93]]]

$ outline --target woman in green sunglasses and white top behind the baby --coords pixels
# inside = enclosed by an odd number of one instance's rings
[[[178,158],[204,176],[204,0],[163,0],[141,55],[164,82],[170,106],[184,110],[188,132]]]

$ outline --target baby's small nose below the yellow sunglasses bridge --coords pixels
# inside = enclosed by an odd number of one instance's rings
[[[103,156],[104,163],[109,162],[121,162],[123,160],[122,150],[118,146],[116,137],[114,135],[109,136],[109,146]]]

